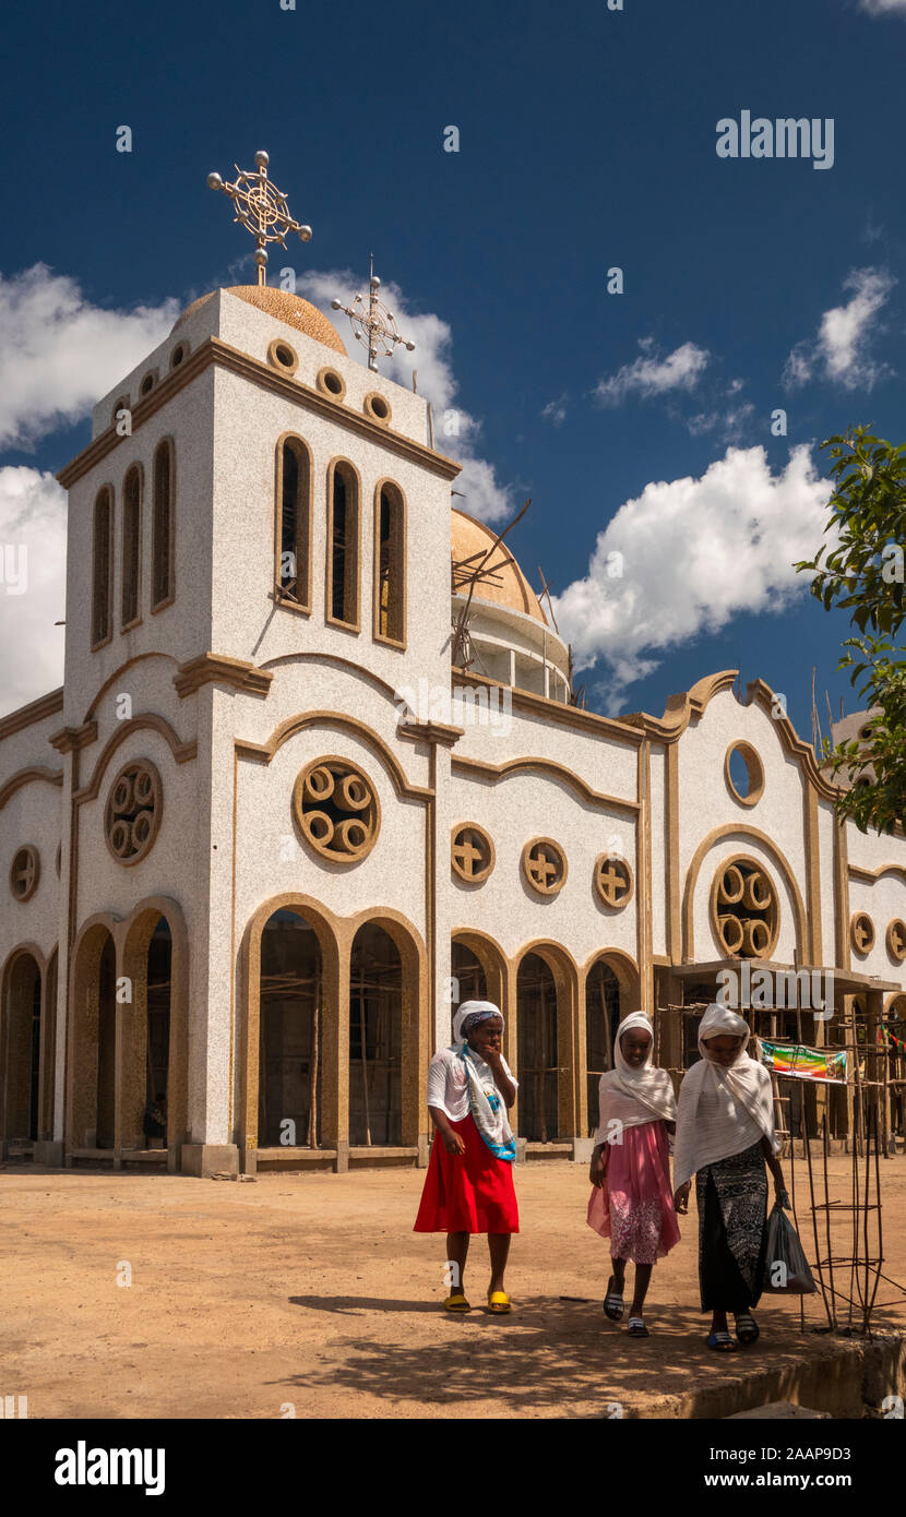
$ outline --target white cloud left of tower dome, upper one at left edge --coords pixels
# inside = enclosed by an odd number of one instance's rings
[[[106,311],[76,279],[35,264],[0,275],[0,446],[30,448],[85,416],[164,340],[178,300]]]

